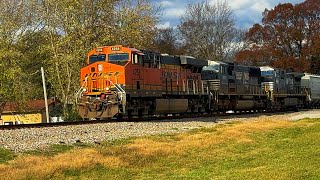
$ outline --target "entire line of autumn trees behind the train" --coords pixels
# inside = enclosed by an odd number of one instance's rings
[[[319,69],[316,0],[266,9],[262,23],[249,30],[236,27],[227,1],[189,4],[176,28],[157,28],[161,10],[149,0],[0,0],[0,103],[41,99],[44,67],[49,96],[66,109],[74,103],[87,52],[104,45]]]

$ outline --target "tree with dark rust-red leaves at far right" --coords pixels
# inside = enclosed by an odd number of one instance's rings
[[[250,47],[236,55],[239,63],[319,73],[319,1],[285,3],[266,9],[262,23],[249,29],[246,40]]]

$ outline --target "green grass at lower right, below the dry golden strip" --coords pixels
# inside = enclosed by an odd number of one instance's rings
[[[253,143],[227,141],[206,148],[191,148],[180,155],[131,157],[132,159],[129,159],[133,164],[125,169],[97,166],[89,172],[83,172],[81,177],[320,179],[320,122],[318,121],[320,120],[309,121],[316,122],[310,127],[281,128],[267,133],[255,132],[250,135]],[[201,131],[216,131],[215,128],[212,129]],[[165,141],[162,137],[153,138]],[[171,141],[172,137],[168,137]]]

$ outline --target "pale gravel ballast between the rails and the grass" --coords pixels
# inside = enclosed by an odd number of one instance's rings
[[[62,127],[0,130],[0,147],[24,152],[43,149],[50,144],[100,143],[101,141],[139,137],[155,134],[173,134],[195,128],[212,127],[219,123],[238,120],[257,120],[262,116],[273,119],[298,120],[320,118],[320,110],[277,115],[246,114],[227,117],[207,117],[152,122],[112,122],[101,124],[73,125]]]

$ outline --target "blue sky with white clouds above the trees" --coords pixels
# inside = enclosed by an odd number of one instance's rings
[[[151,0],[162,9],[161,22],[157,25],[159,28],[176,27],[180,22],[180,17],[184,14],[188,4],[200,2],[203,0]],[[217,0],[208,0],[214,3]],[[262,12],[272,9],[279,3],[297,4],[303,0],[226,0],[234,11],[236,26],[238,28],[250,28],[255,23],[260,23]]]

